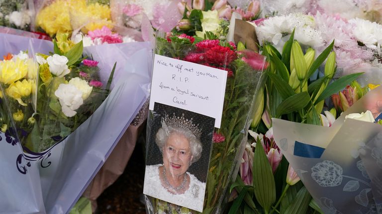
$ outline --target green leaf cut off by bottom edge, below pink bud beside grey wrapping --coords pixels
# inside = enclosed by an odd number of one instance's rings
[[[292,204],[286,209],[285,214],[306,214],[312,197],[305,187],[298,191]]]

